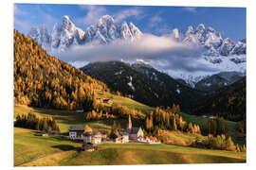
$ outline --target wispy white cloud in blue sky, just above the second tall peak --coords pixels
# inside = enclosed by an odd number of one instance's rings
[[[143,17],[142,14],[142,10],[139,8],[128,8],[128,9],[124,9],[119,11],[116,15],[115,15],[115,21],[116,22],[121,22],[123,20],[125,20],[128,17],[132,17],[135,16],[137,17],[137,19],[140,19],[141,17]]]

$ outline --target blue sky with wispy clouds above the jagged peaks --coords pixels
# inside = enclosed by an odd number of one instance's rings
[[[186,32],[188,26],[196,28],[203,23],[221,32],[223,38],[246,38],[246,8],[15,4],[14,28],[27,34],[31,26],[45,25],[50,32],[68,15],[85,30],[105,14],[112,15],[117,23],[133,22],[142,32],[155,35],[171,33],[175,27]]]

